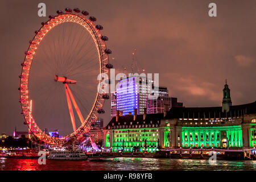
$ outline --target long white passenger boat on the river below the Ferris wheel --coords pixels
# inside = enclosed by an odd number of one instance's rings
[[[86,160],[87,156],[82,151],[49,151],[47,159],[56,160]]]

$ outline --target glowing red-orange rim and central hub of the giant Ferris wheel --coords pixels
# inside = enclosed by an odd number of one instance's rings
[[[84,11],[82,11],[84,12]],[[98,111],[102,110],[102,106],[104,105],[105,96],[104,94],[96,93],[96,98],[93,104],[92,109],[90,110],[88,116],[84,119],[84,122],[81,123],[81,126],[76,129],[73,133],[65,136],[64,138],[54,138],[50,137],[49,135],[45,134],[42,130],[40,130],[39,126],[36,124],[36,118],[33,117],[32,113],[30,113],[30,96],[28,92],[28,79],[30,78],[30,69],[31,63],[34,60],[35,52],[40,44],[40,42],[44,39],[44,36],[51,31],[53,28],[58,26],[61,23],[73,22],[80,24],[80,26],[84,27],[86,31],[89,32],[90,36],[94,40],[98,61],[100,63],[100,71],[99,74],[103,75],[104,73],[109,73],[109,68],[106,65],[109,64],[109,56],[108,54],[111,53],[109,49],[107,49],[105,40],[101,39],[102,35],[100,30],[102,28],[97,28],[93,21],[96,18],[90,19],[85,18],[87,14],[79,14],[79,12],[67,11],[67,13],[58,13],[56,16],[49,16],[49,20],[47,22],[42,23],[42,27],[35,32],[34,38],[30,41],[30,46],[28,47],[27,51],[25,52],[24,62],[22,63],[22,72],[20,75],[20,104],[22,106],[22,114],[24,116],[25,122],[30,129],[30,131],[42,142],[61,146],[62,144],[66,143],[68,140],[72,138],[76,138],[80,141],[85,139],[86,133],[90,130],[91,124],[96,121],[98,118]],[[55,77],[55,81],[60,81],[62,79],[65,80],[63,77]],[[68,88],[69,84],[75,84],[76,81],[68,80],[65,84],[65,89],[67,94],[72,99],[72,94],[70,89]],[[103,81],[103,78],[99,81]],[[104,97],[102,97],[104,96]]]

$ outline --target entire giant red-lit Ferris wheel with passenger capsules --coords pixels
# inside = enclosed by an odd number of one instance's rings
[[[112,51],[106,47],[108,37],[101,34],[103,27],[94,22],[96,18],[87,11],[58,10],[29,42],[21,64],[19,102],[24,124],[43,143],[82,141],[105,112],[102,107],[109,96],[97,86],[113,68],[108,56]],[[60,126],[67,135],[51,137],[39,126]]]

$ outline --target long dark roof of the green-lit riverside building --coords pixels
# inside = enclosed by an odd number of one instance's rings
[[[137,115],[134,121],[134,115],[119,116],[118,121],[113,117],[105,129],[110,126],[122,125],[160,125],[161,119],[175,119],[175,118],[229,118],[242,117],[244,114],[256,113],[256,101],[249,104],[230,106],[227,113],[222,112],[222,107],[172,107],[166,116],[163,113],[146,114],[143,119],[143,114]]]

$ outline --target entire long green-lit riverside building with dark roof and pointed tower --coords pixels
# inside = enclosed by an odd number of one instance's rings
[[[113,152],[155,152],[162,148],[256,147],[256,101],[232,106],[225,85],[222,107],[165,107],[164,113],[117,116],[104,129]],[[134,113],[137,113],[135,110]]]

